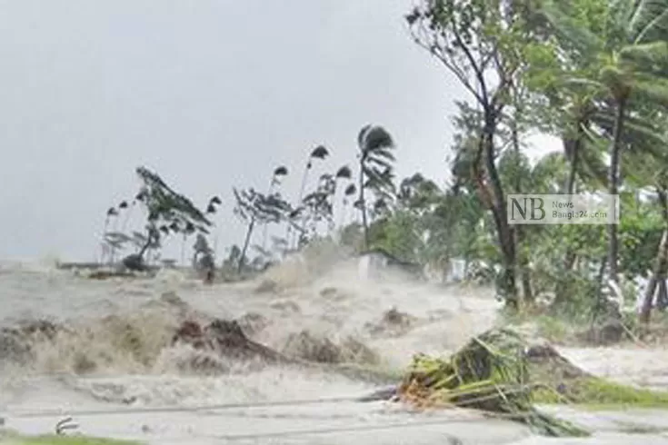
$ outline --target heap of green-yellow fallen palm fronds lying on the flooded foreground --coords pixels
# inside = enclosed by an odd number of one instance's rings
[[[448,359],[417,355],[399,388],[400,398],[419,407],[450,405],[502,414],[546,436],[589,435],[533,407],[527,346],[517,332],[495,329]]]

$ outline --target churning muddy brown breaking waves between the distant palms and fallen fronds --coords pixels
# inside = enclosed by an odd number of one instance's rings
[[[414,352],[454,349],[490,322],[467,323],[465,313],[454,320],[462,303],[443,290],[361,282],[350,267],[298,285],[294,271],[289,282],[273,271],[257,282],[213,287],[180,272],[95,281],[72,272],[6,271],[0,286],[13,277],[17,291],[27,281],[25,292],[43,290],[50,306],[10,313],[0,324],[5,385],[62,376],[67,388],[97,401],[187,404],[322,396],[327,385],[335,393],[368,389]],[[63,298],[68,292],[71,301]],[[422,312],[400,310],[418,307]]]

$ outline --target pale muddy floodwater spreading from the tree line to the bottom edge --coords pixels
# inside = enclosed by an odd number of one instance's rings
[[[49,265],[0,263],[0,326],[48,319],[65,323],[69,332],[55,344],[34,345],[29,362],[0,360],[5,427],[48,433],[58,420],[72,417],[75,431],[152,444],[668,444],[668,416],[661,411],[560,408],[560,415],[595,434],[551,440],[471,410],[418,413],[391,402],[357,401],[387,382],[327,365],[228,363],[222,376],[178,366],[194,351],[165,345],[185,318],[244,321],[254,341],[277,351],[296,351],[290,349],[291,334],[304,331],[342,348],[353,339],[375,352],[376,368],[394,370],[416,352],[454,351],[492,326],[498,309],[489,291],[391,277],[360,280],[354,264],[313,280],[288,266],[271,277],[279,290],[257,292],[262,280],[205,286],[182,272],[165,271],[153,279],[99,281]],[[404,330],[382,329],[384,313],[393,307],[412,317]],[[587,371],[618,381],[668,384],[665,350],[563,353]]]

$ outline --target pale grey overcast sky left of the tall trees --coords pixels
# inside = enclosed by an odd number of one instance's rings
[[[461,87],[408,37],[410,0],[0,0],[0,258],[92,260],[145,165],[226,208],[275,165],[297,192],[319,143],[354,163],[364,124],[400,176],[442,182]],[[172,255],[174,256],[174,255]]]

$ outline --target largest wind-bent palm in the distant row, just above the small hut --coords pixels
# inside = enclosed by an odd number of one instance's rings
[[[357,135],[360,163],[359,197],[357,206],[362,212],[364,227],[364,249],[369,248],[369,224],[364,191],[375,189],[383,191],[393,186],[394,140],[382,126],[364,125]]]

